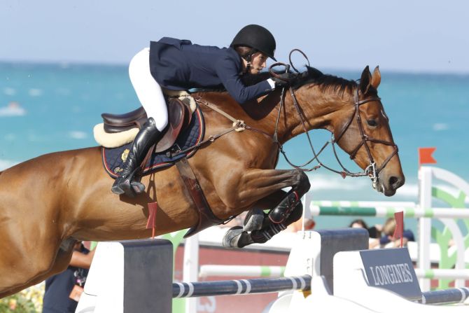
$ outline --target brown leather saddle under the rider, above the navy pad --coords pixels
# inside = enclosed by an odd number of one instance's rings
[[[162,139],[158,142],[155,152],[166,151],[174,145],[181,130],[190,125],[192,112],[190,107],[180,99],[170,98],[167,102],[168,125],[165,128]],[[101,114],[104,121],[104,131],[108,133],[125,132],[132,128],[139,128],[148,119],[143,106],[139,109],[124,114]]]

